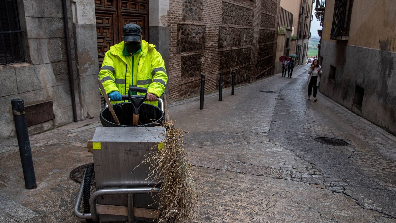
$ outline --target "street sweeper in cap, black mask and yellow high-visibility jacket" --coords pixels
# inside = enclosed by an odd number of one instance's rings
[[[139,25],[126,24],[122,31],[124,41],[110,46],[106,52],[99,79],[111,104],[125,102],[121,95],[128,95],[128,88],[133,85],[147,88],[147,103],[157,105],[156,100],[168,82],[164,60],[155,45],[142,40]]]

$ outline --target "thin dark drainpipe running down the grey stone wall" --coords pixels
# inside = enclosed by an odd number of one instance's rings
[[[69,24],[67,21],[66,0],[62,0],[62,8],[63,8],[63,21],[64,21],[63,24],[65,27],[66,50],[67,50],[67,68],[69,70],[70,95],[72,97],[73,121],[78,122],[76,96],[74,95],[74,78],[73,78],[73,70],[72,70],[72,56],[70,52]]]

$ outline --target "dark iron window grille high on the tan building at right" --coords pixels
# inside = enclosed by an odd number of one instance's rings
[[[330,39],[348,40],[353,0],[335,0]]]

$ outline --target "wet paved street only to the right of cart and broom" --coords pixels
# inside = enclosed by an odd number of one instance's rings
[[[202,222],[396,222],[395,137],[326,96],[307,100],[307,68],[171,109],[201,167]]]

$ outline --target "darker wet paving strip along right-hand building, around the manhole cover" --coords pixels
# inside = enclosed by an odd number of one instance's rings
[[[324,96],[318,103],[306,100],[304,83],[300,75],[282,88],[278,99],[285,100],[277,102],[268,133],[272,142],[310,163],[306,168],[292,166],[292,177],[299,176],[292,180],[324,186],[362,208],[395,217],[395,141]],[[350,145],[329,146],[315,142],[316,137],[343,139]]]

